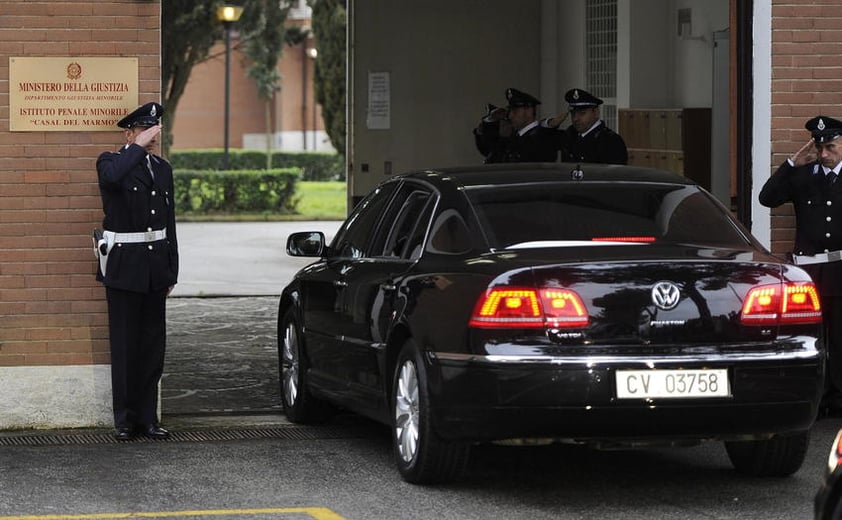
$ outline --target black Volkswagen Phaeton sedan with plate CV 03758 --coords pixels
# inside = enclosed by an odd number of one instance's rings
[[[722,440],[734,467],[799,469],[824,379],[810,277],[710,194],[627,166],[502,164],[395,176],[283,290],[293,422],[391,428],[413,483],[478,442]]]

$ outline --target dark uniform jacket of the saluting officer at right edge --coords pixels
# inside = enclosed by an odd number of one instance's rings
[[[763,185],[760,203],[795,209],[796,255],[842,250],[842,179],[828,184],[818,162],[791,166],[785,161]],[[821,296],[842,295],[842,261],[801,266],[818,284]]]

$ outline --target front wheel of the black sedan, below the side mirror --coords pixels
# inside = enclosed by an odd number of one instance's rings
[[[287,419],[298,424],[322,422],[330,415],[327,403],[312,396],[307,386],[307,357],[301,327],[292,309],[278,322],[278,363],[281,403]]]

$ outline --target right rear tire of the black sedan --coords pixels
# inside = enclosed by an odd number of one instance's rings
[[[726,441],[728,458],[739,473],[754,477],[788,477],[801,468],[810,432],[775,435],[758,441]]]

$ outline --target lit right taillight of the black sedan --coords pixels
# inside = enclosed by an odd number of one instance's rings
[[[746,295],[740,315],[746,325],[819,323],[821,319],[819,292],[812,282],[754,287]]]

